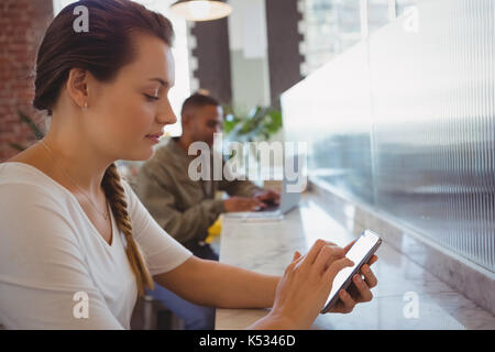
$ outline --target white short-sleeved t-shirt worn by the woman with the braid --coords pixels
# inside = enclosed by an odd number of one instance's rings
[[[189,258],[191,252],[156,223],[125,180],[122,185],[151,274]],[[31,165],[0,164],[0,321],[6,328],[130,329],[138,286],[124,235],[112,213],[111,219],[110,245],[64,186]]]

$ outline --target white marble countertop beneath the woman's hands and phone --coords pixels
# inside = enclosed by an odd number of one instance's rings
[[[223,219],[220,262],[258,273],[282,275],[297,250],[306,253],[321,238],[345,245],[359,233],[352,209],[337,221],[312,195],[305,195],[299,209],[282,221],[243,222]],[[345,212],[346,211],[346,212]],[[352,230],[350,230],[352,229]],[[358,231],[359,230],[359,231]],[[384,241],[373,271],[378,285],[371,302],[349,315],[320,315],[312,329],[495,329],[495,317],[454,292]],[[410,301],[418,298],[418,317],[406,318]],[[216,329],[244,329],[267,309],[217,309]]]

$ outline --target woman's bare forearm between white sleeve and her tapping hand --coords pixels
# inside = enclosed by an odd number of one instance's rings
[[[218,308],[270,308],[280,279],[197,256],[153,278],[194,304]]]

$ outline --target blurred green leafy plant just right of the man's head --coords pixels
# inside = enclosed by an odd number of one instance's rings
[[[234,112],[224,106],[223,132],[230,141],[267,141],[282,128],[282,113],[273,107],[255,107],[248,114]]]

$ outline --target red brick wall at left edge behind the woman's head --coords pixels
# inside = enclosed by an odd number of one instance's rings
[[[29,146],[34,141],[18,110],[45,132],[44,116],[31,103],[36,51],[52,19],[52,0],[0,0],[0,162],[19,153],[9,142]]]

